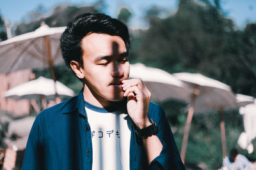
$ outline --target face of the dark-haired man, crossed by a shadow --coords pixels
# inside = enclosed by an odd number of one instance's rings
[[[125,43],[119,36],[92,33],[82,39],[84,98],[93,104],[122,101],[121,81],[129,77]]]

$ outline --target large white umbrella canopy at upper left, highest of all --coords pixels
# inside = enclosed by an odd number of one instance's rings
[[[42,24],[33,32],[0,42],[0,73],[50,67],[63,63],[60,35],[66,27]],[[52,75],[54,78],[54,75]]]

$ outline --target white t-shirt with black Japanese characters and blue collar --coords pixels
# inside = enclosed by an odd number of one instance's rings
[[[131,118],[118,108],[86,102],[85,110],[92,132],[92,169],[130,169]]]

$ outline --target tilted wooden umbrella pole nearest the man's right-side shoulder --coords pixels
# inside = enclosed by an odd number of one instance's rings
[[[180,157],[181,157],[183,164],[185,163],[186,149],[188,146],[189,130],[190,130],[193,114],[194,114],[194,106],[195,106],[196,96],[198,96],[198,94],[199,94],[199,89],[198,89],[198,86],[196,86],[194,89],[194,92],[192,94],[192,97],[191,97],[191,103],[189,104],[189,110],[188,110],[188,117],[187,117],[186,125],[184,128],[184,135],[183,135],[183,141],[182,141],[181,153],[180,153]]]

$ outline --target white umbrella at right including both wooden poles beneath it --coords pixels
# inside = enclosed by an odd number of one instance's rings
[[[186,147],[188,145],[188,135],[193,113],[208,113],[209,111],[219,111],[221,118],[221,143],[223,157],[226,153],[225,123],[222,120],[223,110],[236,107],[236,97],[231,88],[220,81],[208,78],[202,74],[176,73],[179,80],[182,80],[194,89],[189,104],[188,118],[184,130],[182,142],[181,158],[184,161]]]

